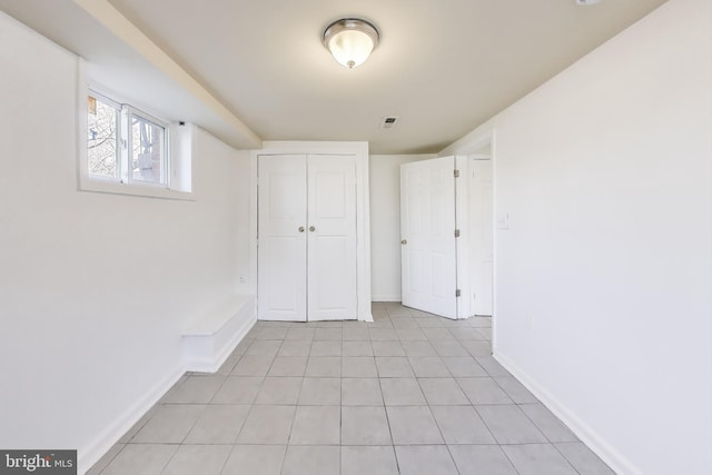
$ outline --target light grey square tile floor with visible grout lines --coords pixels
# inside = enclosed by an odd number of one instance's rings
[[[491,319],[376,303],[374,323],[258,321],[90,474],[613,472],[491,356]]]

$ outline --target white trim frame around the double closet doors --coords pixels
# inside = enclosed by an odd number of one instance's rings
[[[238,291],[257,295],[257,169],[260,155],[350,155],[356,161],[356,307],[357,318],[373,321],[370,313],[370,214],[368,197],[368,142],[265,141],[250,151],[250,266]],[[259,303],[257,303],[259,305]]]

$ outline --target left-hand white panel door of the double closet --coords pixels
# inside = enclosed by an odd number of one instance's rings
[[[258,159],[257,316],[305,321],[307,316],[307,157]]]

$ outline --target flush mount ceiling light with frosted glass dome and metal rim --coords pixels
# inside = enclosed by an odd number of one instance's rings
[[[376,27],[358,18],[336,20],[324,30],[324,46],[339,63],[349,69],[368,59],[378,39]]]

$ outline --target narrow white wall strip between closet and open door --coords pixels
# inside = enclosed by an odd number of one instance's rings
[[[370,291],[374,301],[400,300],[400,165],[433,157],[369,157]]]

